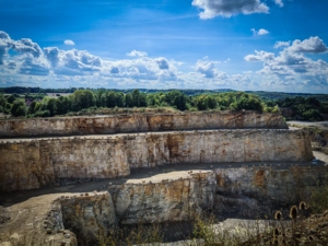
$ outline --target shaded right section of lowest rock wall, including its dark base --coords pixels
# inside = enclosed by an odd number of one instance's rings
[[[312,191],[327,184],[327,172],[324,166],[218,168],[215,209],[234,216],[270,218],[274,206],[289,209],[285,204],[309,201]]]

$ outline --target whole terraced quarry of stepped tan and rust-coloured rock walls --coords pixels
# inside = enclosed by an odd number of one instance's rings
[[[263,219],[307,201],[328,171],[306,131],[253,112],[0,120],[0,156],[1,246],[95,245],[154,223],[184,239],[209,211]]]

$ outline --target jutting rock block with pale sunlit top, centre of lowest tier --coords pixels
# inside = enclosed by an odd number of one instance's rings
[[[214,173],[201,171],[168,173],[109,186],[122,224],[189,221],[213,207],[214,190]]]

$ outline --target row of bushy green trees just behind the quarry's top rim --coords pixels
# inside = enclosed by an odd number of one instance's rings
[[[181,91],[127,93],[108,90],[75,90],[72,94],[51,97],[44,93],[0,94],[0,112],[14,117],[52,117],[70,112],[96,108],[173,107],[178,110],[256,110],[278,112],[259,96],[244,92],[187,95]]]

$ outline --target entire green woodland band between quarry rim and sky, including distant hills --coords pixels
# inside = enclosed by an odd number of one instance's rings
[[[2,93],[1,93],[2,91]],[[52,94],[49,94],[52,93]],[[65,94],[62,94],[65,93]],[[281,108],[286,119],[323,119],[328,114],[328,95],[234,92],[231,90],[91,90],[91,89],[0,89],[0,113],[14,117],[52,117],[122,112],[168,110],[256,110],[276,113]],[[112,110],[106,110],[106,109]],[[142,110],[136,110],[142,108]],[[165,110],[166,110],[165,109]],[[129,113],[131,110],[126,110]]]

